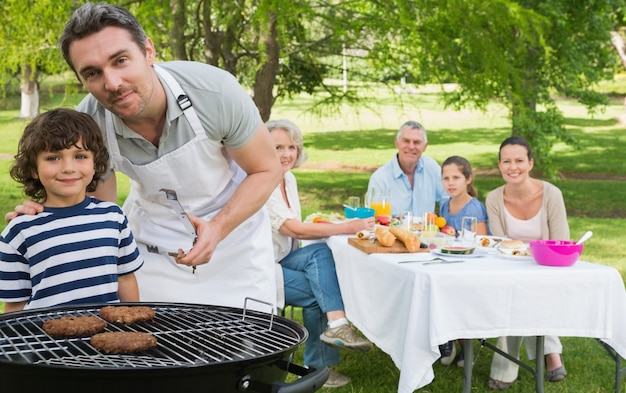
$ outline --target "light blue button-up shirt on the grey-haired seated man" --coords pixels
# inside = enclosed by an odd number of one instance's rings
[[[372,174],[367,189],[391,194],[391,215],[400,217],[403,211],[412,211],[414,217],[435,212],[435,203],[447,201],[441,182],[441,167],[430,157],[421,157],[413,174],[413,188],[409,178],[402,172],[398,154]]]

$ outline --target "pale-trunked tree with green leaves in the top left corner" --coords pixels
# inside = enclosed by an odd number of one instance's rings
[[[65,61],[57,49],[69,0],[32,1],[4,0],[0,27],[0,83],[10,78],[20,80],[22,104],[20,118],[33,118],[39,113],[39,83],[45,74],[65,69]]]

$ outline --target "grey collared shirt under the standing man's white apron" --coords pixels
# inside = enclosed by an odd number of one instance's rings
[[[252,98],[229,72],[191,61],[158,65],[181,85],[209,139],[236,149],[245,145],[261,125],[261,116]],[[126,127],[119,117],[113,116],[120,152],[135,165],[148,164],[194,137],[176,97],[163,80],[161,84],[167,96],[167,117],[158,147]],[[98,123],[106,142],[105,108],[89,94],[76,109],[87,113]]]

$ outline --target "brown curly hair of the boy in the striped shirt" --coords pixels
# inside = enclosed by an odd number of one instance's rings
[[[24,194],[44,201],[46,189],[33,176],[37,173],[37,156],[41,152],[68,149],[79,142],[94,156],[95,173],[87,185],[87,192],[93,192],[109,169],[109,153],[98,124],[89,115],[73,109],[52,109],[35,117],[24,129],[9,173],[23,185]]]

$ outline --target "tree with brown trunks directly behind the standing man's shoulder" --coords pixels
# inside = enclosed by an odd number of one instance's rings
[[[162,60],[195,60],[226,69],[250,88],[267,120],[281,96],[321,89],[330,102],[354,99],[353,92],[325,82],[340,73],[333,58],[340,58],[342,45],[358,40],[361,29],[342,3],[144,0],[137,3],[136,14]]]

